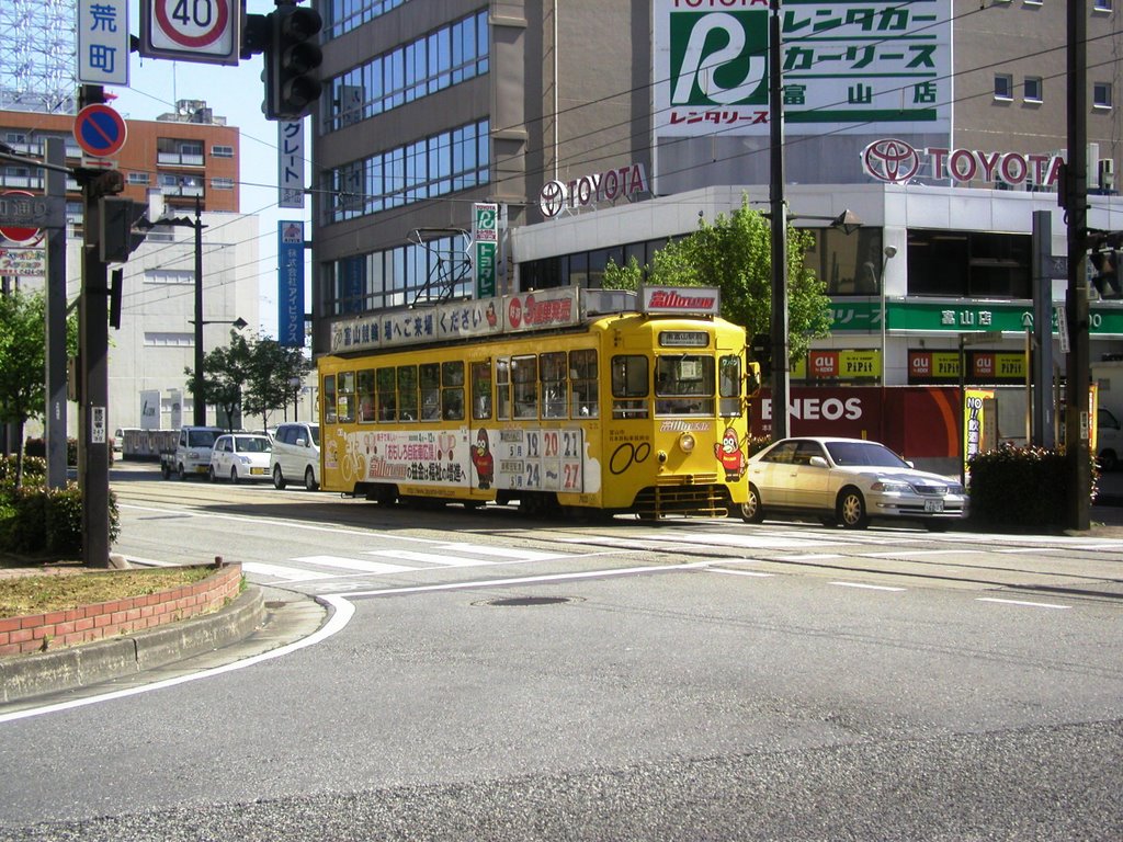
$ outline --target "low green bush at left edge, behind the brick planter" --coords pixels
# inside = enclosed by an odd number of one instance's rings
[[[120,534],[117,495],[109,492],[109,540]],[[0,493],[0,551],[53,557],[82,555],[82,489],[25,486]]]

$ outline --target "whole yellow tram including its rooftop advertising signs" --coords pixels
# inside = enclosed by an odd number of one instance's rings
[[[321,479],[383,503],[713,516],[758,368],[709,287],[564,287],[332,324]]]

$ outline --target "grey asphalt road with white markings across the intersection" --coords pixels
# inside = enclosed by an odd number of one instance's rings
[[[283,658],[0,721],[0,840],[1123,838],[1111,583],[935,570],[1110,571],[1117,542],[987,555],[736,522],[546,542],[504,513],[140,488],[122,493],[126,548],[206,555],[225,534],[231,560],[273,564],[252,579],[347,622]],[[765,546],[715,547],[728,534]],[[453,561],[426,560],[438,549]],[[280,578],[300,571],[319,578]]]

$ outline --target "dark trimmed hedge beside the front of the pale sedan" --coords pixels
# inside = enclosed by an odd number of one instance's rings
[[[971,457],[970,520],[984,525],[1063,527],[1068,520],[1069,469],[1063,451],[1001,445]],[[1095,467],[1092,487],[1095,498]]]

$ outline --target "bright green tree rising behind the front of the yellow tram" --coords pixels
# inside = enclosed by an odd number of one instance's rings
[[[787,229],[788,348],[792,360],[803,358],[813,339],[830,331],[831,300],[827,284],[804,265],[812,246],[807,231]],[[636,290],[643,281],[666,286],[716,286],[722,315],[742,324],[748,335],[769,333],[772,324],[772,222],[749,208],[748,196],[730,216],[704,219],[699,230],[672,240],[655,254],[651,265],[634,258],[627,266],[609,264],[604,286]]]

